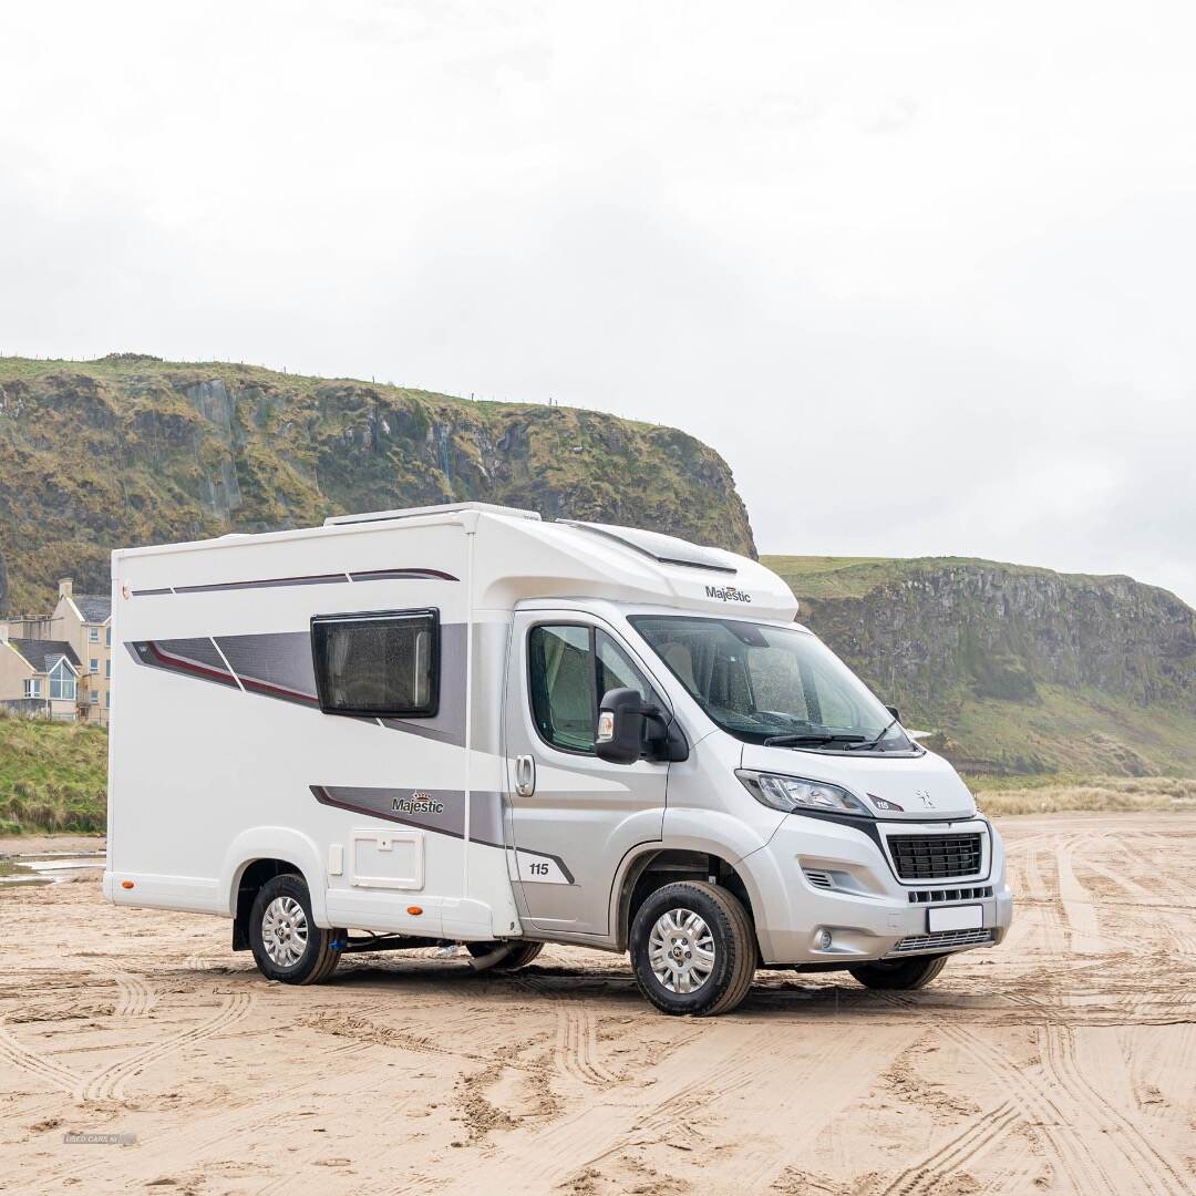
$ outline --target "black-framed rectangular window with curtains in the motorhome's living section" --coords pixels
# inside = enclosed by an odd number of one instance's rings
[[[325,714],[429,719],[440,689],[440,612],[317,615],[311,655]]]

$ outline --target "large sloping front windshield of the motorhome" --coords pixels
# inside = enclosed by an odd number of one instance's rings
[[[631,626],[724,731],[822,751],[910,751],[867,687],[805,631],[731,618],[635,615]]]

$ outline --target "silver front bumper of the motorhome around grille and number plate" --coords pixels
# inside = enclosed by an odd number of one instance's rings
[[[761,953],[769,964],[841,964],[996,946],[1013,919],[1001,837],[984,818],[952,823],[832,822],[789,814],[765,847],[740,861]],[[980,868],[968,877],[901,880],[886,835],[980,831]],[[928,910],[978,905],[977,927],[929,928]],[[935,915],[938,916],[938,915]],[[820,932],[830,944],[820,946]]]

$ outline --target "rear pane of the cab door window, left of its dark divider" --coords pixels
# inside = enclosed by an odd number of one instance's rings
[[[554,748],[592,752],[598,707],[588,627],[533,627],[527,636],[536,727]]]

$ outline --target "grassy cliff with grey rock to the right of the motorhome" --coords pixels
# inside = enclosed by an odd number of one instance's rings
[[[1165,590],[962,557],[763,560],[969,771],[1196,775],[1196,611]]]

